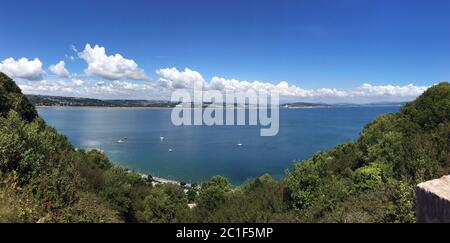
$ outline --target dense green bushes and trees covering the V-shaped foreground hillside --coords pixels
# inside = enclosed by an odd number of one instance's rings
[[[414,222],[415,185],[450,174],[449,120],[441,83],[283,181],[217,176],[185,192],[76,151],[0,73],[0,222]]]

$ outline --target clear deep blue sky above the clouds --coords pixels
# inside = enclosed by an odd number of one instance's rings
[[[446,0],[17,0],[1,9],[0,61],[38,58],[46,79],[48,66],[64,60],[78,78],[110,82],[70,60],[78,57],[70,46],[81,52],[87,43],[133,60],[153,80],[172,67],[207,81],[306,90],[422,87],[450,76]]]

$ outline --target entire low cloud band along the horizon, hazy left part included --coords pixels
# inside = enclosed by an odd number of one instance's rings
[[[89,48],[88,48],[89,49]],[[95,48],[94,48],[95,49]],[[54,65],[53,69],[63,69],[64,63]],[[59,71],[61,71],[59,70]],[[52,72],[55,70],[52,70]],[[60,73],[61,72],[54,72]],[[38,93],[47,95],[65,95],[78,97],[106,98],[106,99],[170,99],[175,89],[190,89],[194,85],[202,85],[205,90],[219,90],[221,92],[233,91],[244,94],[248,91],[269,93],[276,91],[285,101],[307,102],[351,102],[369,103],[379,101],[408,101],[422,94],[428,87],[408,85],[373,85],[364,83],[361,86],[349,89],[318,88],[304,89],[286,81],[279,83],[261,81],[242,81],[213,77],[205,80],[194,70],[164,68],[156,71],[159,82],[136,82],[120,79],[86,80],[80,75],[69,75],[69,78],[43,80],[39,82],[21,81],[20,87],[25,93]],[[61,77],[65,75],[59,75]],[[196,86],[198,87],[198,86]]]

